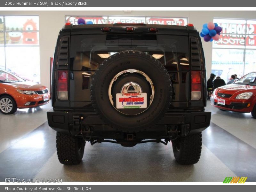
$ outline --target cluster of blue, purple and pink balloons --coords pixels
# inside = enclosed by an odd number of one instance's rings
[[[217,23],[209,22],[204,23],[203,29],[200,33],[201,37],[204,37],[204,41],[218,41],[220,39],[220,32],[222,31],[222,28],[218,26]]]

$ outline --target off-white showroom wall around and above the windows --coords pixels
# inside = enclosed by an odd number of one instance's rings
[[[0,15],[39,15],[41,84],[50,87],[50,57],[53,56],[58,33],[65,24],[65,15],[77,16],[154,16],[188,17],[198,31],[213,18],[256,19],[256,11],[1,11]],[[212,43],[204,42],[207,78],[211,73]]]

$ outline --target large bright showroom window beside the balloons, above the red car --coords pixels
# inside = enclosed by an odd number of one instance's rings
[[[256,71],[256,20],[214,19],[222,27],[212,44],[212,73],[226,82]]]

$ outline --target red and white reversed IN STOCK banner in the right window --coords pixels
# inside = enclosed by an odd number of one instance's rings
[[[255,22],[255,23],[253,23]],[[256,21],[251,23],[218,23],[222,27],[220,39],[213,47],[256,49]]]

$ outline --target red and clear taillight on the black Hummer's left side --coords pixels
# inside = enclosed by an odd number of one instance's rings
[[[58,71],[58,98],[61,100],[68,99],[68,71]]]

